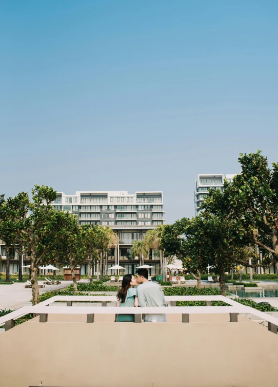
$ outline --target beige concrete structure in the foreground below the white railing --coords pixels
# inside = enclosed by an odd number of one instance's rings
[[[82,315],[49,315],[47,323],[33,319],[6,331],[0,336],[1,386],[278,384],[278,337],[259,324],[231,323],[229,315],[192,315],[188,324],[174,322],[181,321],[178,315],[142,324],[95,317],[90,324]],[[21,357],[16,367],[15,354]]]

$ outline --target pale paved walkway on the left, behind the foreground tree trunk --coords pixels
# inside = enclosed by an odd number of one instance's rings
[[[38,281],[42,284],[43,281]],[[63,289],[72,284],[72,281],[61,281],[61,285],[45,285],[44,288],[38,289],[39,294],[50,290]],[[14,283],[13,285],[0,285],[0,309],[18,309],[22,306],[32,305],[32,289],[24,288],[24,283]]]

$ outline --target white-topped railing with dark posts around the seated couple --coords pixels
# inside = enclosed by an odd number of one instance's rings
[[[65,301],[67,307],[49,307],[57,301]],[[98,301],[102,306],[73,307],[73,301]],[[251,308],[228,299],[224,296],[166,296],[165,301],[171,305],[166,307],[107,307],[107,302],[115,302],[115,296],[54,296],[34,306],[24,306],[0,318],[0,326],[5,324],[5,330],[14,327],[14,320],[29,313],[38,314],[39,322],[47,322],[48,315],[87,315],[87,322],[94,322],[94,315],[134,315],[134,322],[141,323],[143,314],[182,315],[182,322],[189,323],[190,315],[194,314],[229,314],[230,322],[237,322],[237,315],[251,314],[268,322],[268,330],[277,334],[278,319],[260,310]],[[206,306],[176,306],[177,301],[206,301]],[[211,301],[223,301],[230,306],[211,306]],[[104,306],[106,306],[104,308]]]

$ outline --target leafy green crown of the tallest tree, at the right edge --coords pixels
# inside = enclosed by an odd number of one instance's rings
[[[239,162],[241,173],[225,181],[223,193],[210,192],[203,207],[231,220],[239,243],[258,246],[265,252],[265,264],[274,263],[278,271],[278,164],[269,168],[260,150],[240,154]]]

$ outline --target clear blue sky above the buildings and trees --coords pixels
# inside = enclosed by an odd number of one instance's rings
[[[278,161],[278,2],[0,2],[0,193],[163,190]]]

